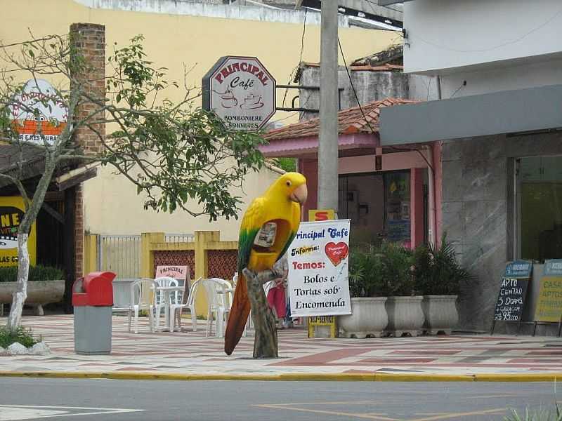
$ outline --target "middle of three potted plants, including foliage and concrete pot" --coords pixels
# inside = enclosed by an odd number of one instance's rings
[[[412,274],[412,250],[398,243],[384,242],[384,276],[388,281],[391,296],[386,300],[388,326],[386,332],[395,337],[405,333],[417,336],[424,325],[424,312],[414,276]]]

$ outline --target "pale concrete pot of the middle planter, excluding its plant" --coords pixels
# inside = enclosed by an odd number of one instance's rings
[[[404,333],[417,336],[424,326],[424,312],[421,309],[421,295],[413,297],[388,297],[386,312],[388,313],[388,326],[386,332],[396,338]]]

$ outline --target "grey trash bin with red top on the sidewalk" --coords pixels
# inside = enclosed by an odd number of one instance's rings
[[[74,352],[109,354],[111,352],[111,316],[113,272],[92,272],[74,281]]]

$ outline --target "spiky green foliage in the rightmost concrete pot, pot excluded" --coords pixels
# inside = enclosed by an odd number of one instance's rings
[[[473,276],[457,262],[457,253],[443,234],[439,248],[419,246],[414,250],[414,277],[425,295],[458,295],[462,283]]]

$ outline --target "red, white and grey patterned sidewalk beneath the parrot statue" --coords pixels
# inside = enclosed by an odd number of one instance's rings
[[[0,318],[0,326],[5,323]],[[549,337],[308,339],[306,330],[294,328],[278,331],[280,359],[254,360],[253,337],[242,338],[233,355],[226,356],[223,339],[206,338],[202,323],[195,333],[150,333],[148,319],[141,319],[135,335],[127,332],[126,317],[114,316],[112,354],[107,356],[74,354],[73,316],[25,316],[23,325],[33,328],[34,335],[42,335],[52,354],[0,356],[0,375],[64,372],[61,375],[125,377],[129,373],[134,377],[142,372],[150,373],[145,377],[294,375],[294,380],[299,375],[312,380],[313,375],[326,374],[346,380],[438,380],[441,375],[445,375],[441,380],[562,378],[562,339]],[[188,326],[190,320],[185,319],[183,328]],[[487,379],[488,374],[495,376]]]

